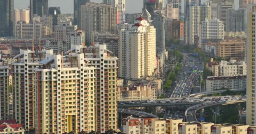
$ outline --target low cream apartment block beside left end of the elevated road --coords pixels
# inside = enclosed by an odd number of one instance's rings
[[[147,100],[156,99],[156,88],[153,85],[133,85],[117,88],[117,100]]]

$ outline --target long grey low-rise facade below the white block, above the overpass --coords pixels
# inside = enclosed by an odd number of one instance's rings
[[[216,76],[206,79],[207,92],[220,89],[246,90],[246,76]]]

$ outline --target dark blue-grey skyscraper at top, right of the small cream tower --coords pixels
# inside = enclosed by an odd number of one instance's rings
[[[48,16],[48,0],[30,0],[30,21],[33,20],[33,15],[43,17]]]

